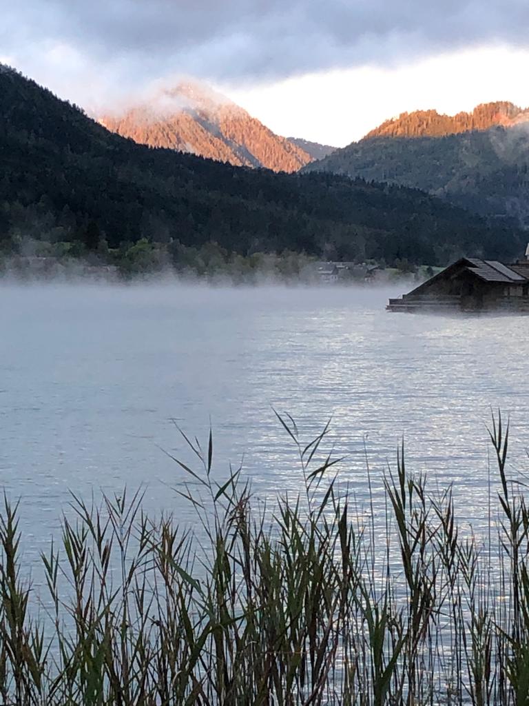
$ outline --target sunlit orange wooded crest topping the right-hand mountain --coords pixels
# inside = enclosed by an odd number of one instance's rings
[[[471,113],[439,114],[437,110],[416,110],[401,113],[367,133],[373,137],[442,137],[471,130],[488,130],[494,126],[512,127],[529,121],[529,109],[498,101],[482,103]]]

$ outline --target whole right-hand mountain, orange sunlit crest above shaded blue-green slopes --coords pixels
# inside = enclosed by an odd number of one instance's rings
[[[498,108],[501,106],[503,112]],[[449,119],[457,119],[450,129],[458,132],[443,136],[419,132],[448,129],[446,116],[427,124],[424,116],[433,113],[410,114],[398,125],[388,121],[377,128],[381,136],[372,131],[370,136],[308,164],[302,171],[422,189],[482,216],[528,228],[527,112],[510,106],[494,103],[478,107],[471,114],[458,114]],[[500,119],[504,125],[461,131],[465,126],[487,126]],[[392,131],[407,131],[407,136],[391,136]],[[414,136],[409,136],[410,132]]]

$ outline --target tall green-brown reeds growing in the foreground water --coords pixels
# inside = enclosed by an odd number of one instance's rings
[[[99,507],[73,496],[38,597],[20,508],[4,498],[4,704],[528,703],[529,507],[501,415],[483,536],[458,525],[450,487],[431,492],[410,472],[403,447],[375,513],[368,466],[367,508],[339,482],[328,426],[305,443],[291,417],[279,421],[299,457],[298,498],[263,506],[241,468],[215,479],[211,433],[205,448],[184,436],[197,467],[170,458],[195,532],[150,520],[139,493]]]

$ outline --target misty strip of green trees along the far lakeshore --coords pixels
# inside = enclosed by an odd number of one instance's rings
[[[0,253],[0,279],[19,281],[91,277],[126,282],[173,276],[179,280],[257,285],[266,282],[341,285],[386,284],[401,278],[426,280],[441,268],[415,265],[406,258],[387,266],[384,261],[333,262],[305,253],[256,252],[247,256],[230,252],[215,242],[200,248],[179,241],[169,244],[140,239],[109,249],[99,241],[87,251],[71,243],[24,241],[18,253]]]

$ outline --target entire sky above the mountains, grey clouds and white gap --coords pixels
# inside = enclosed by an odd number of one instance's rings
[[[0,0],[0,61],[92,114],[205,80],[334,146],[400,112],[529,105],[527,0]]]

